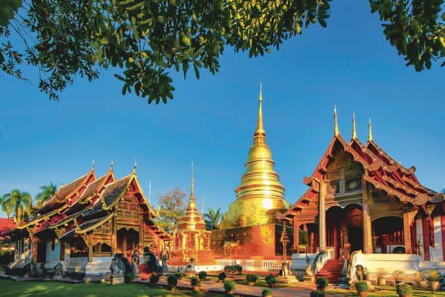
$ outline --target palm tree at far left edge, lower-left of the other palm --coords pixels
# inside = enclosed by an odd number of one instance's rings
[[[13,214],[15,221],[21,223],[26,216],[31,214],[33,198],[29,193],[15,189],[1,196],[0,204],[1,210],[6,211],[8,218]]]

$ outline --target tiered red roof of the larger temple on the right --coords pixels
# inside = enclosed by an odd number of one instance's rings
[[[305,209],[309,202],[316,200],[318,189],[316,180],[321,180],[327,171],[327,166],[333,160],[334,149],[342,147],[345,152],[353,156],[354,161],[360,163],[364,168],[364,179],[389,195],[396,196],[402,202],[413,205],[422,205],[426,202],[442,202],[445,195],[432,191],[419,183],[414,172],[416,168],[405,168],[394,161],[380,146],[372,139],[365,145],[358,138],[353,138],[347,143],[340,134],[332,138],[323,158],[318,163],[311,177],[305,177],[303,182],[309,186],[305,194],[286,212],[287,217],[293,216],[293,211]]]

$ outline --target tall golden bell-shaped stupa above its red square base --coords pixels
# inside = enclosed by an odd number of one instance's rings
[[[257,129],[253,136],[245,172],[241,184],[236,188],[236,200],[224,215],[221,229],[248,227],[278,223],[277,211],[289,209],[284,200],[284,186],[273,167],[272,152],[266,144],[266,131],[263,124],[261,86],[259,89],[259,110]]]

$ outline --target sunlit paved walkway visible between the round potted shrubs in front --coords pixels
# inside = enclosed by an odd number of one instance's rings
[[[149,283],[148,280],[141,280],[140,283]],[[168,285],[167,278],[161,277],[159,280],[159,284]],[[187,288],[191,289],[190,280],[183,279],[178,280],[179,288]],[[216,282],[215,280],[204,280],[201,282],[201,289],[205,291],[212,291],[223,293],[224,292],[224,284],[222,282]],[[261,296],[261,292],[266,289],[265,287],[260,286],[249,286],[247,284],[236,284],[235,294],[240,294],[242,296]],[[290,284],[289,287],[273,289],[269,288],[272,291],[273,297],[307,297],[310,292],[315,289],[315,284]],[[334,295],[326,294],[326,297],[332,297]]]

